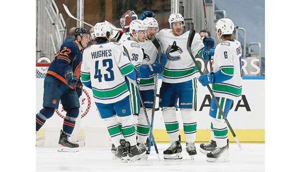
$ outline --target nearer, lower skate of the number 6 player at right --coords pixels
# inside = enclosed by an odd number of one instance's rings
[[[229,161],[229,145],[220,148],[217,147],[214,151],[207,154],[209,162],[226,162]]]

